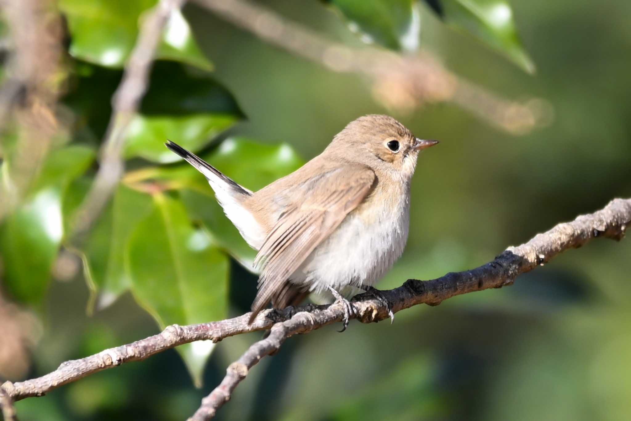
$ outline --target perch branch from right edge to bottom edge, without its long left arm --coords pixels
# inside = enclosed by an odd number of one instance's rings
[[[579,216],[573,222],[560,223],[526,244],[509,247],[490,263],[469,271],[447,273],[430,281],[410,279],[401,287],[383,291],[384,297],[391,303],[392,311],[398,312],[416,304],[438,305],[455,295],[510,285],[517,275],[543,266],[557,254],[581,247],[595,237],[622,239],[629,223],[631,199],[614,199],[603,210]],[[389,317],[384,305],[368,297],[370,293],[353,299],[360,321],[370,323]],[[230,400],[232,391],[247,376],[248,370],[261,357],[276,352],[286,338],[341,321],[343,314],[341,304],[333,304],[320,311],[298,312],[291,319],[274,324],[268,338],[254,343],[239,360],[230,364],[221,384],[202,400],[189,421],[215,417],[218,408]]]

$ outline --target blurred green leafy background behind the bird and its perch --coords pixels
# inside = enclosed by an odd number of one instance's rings
[[[439,139],[420,157],[408,246],[382,289],[473,268],[631,196],[627,1],[187,4],[167,21],[138,112],[108,132],[155,3],[1,3],[0,381],[249,310],[254,252],[166,138],[250,189],[364,114]],[[82,223],[103,139],[127,117],[122,181]],[[631,241],[596,240],[511,287],[413,307],[392,325],[295,336],[217,418],[627,420],[630,280]],[[259,338],[163,352],[16,410],[186,419]]]

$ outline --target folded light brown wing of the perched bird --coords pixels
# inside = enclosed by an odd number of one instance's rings
[[[263,269],[252,303],[252,319],[315,247],[362,202],[375,178],[368,167],[349,164],[312,177],[292,191],[296,204],[283,211],[254,261]]]

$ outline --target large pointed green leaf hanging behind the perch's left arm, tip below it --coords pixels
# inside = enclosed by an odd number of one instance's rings
[[[131,290],[161,328],[223,319],[228,300],[228,258],[184,206],[163,194],[134,229],[126,249]],[[209,341],[177,347],[194,382],[213,349]]]

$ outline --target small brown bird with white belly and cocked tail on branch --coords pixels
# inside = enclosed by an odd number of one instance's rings
[[[344,331],[354,314],[343,296],[350,287],[372,293],[394,319],[373,285],[403,254],[416,160],[437,143],[416,138],[390,116],[362,116],[320,155],[258,191],[177,143],[165,145],[206,177],[225,215],[257,250],[261,275],[250,323],[269,302],[285,309],[312,292],[329,292],[344,305]]]

